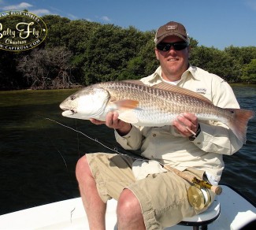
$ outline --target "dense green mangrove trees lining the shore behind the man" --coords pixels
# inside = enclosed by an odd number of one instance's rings
[[[48,29],[42,44],[22,52],[0,50],[0,91],[80,88],[101,81],[140,79],[158,67],[155,31],[56,15],[42,19]],[[218,50],[198,46],[191,38],[190,62],[228,83],[256,83],[256,46]]]

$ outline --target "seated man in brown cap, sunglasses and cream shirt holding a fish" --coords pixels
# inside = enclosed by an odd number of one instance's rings
[[[182,24],[169,22],[155,35],[160,67],[141,81],[149,86],[172,83],[209,98],[215,106],[239,108],[228,83],[219,76],[189,65],[189,38]],[[77,163],[76,178],[91,229],[105,229],[106,202],[117,199],[118,229],[161,229],[202,210],[187,199],[191,186],[158,165],[168,164],[217,185],[224,169],[222,154],[234,154],[243,143],[225,124],[200,122],[191,113],[180,114],[173,126],[135,127],[108,113],[106,124],[115,129],[124,149],[141,150],[139,161],[117,154],[86,154]],[[194,134],[191,134],[194,133]]]

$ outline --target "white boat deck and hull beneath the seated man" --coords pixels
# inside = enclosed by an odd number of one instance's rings
[[[240,229],[256,220],[256,208],[245,198],[222,185],[223,192],[218,197],[221,214],[208,229]],[[110,200],[106,211],[106,229],[116,229],[117,201]],[[20,210],[0,216],[0,229],[89,229],[81,198],[72,198]],[[189,226],[176,225],[166,229],[192,229]]]

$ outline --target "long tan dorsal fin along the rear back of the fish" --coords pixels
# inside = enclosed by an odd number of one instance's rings
[[[172,92],[177,93],[177,94],[187,95],[187,96],[190,96],[190,97],[193,97],[193,98],[198,98],[198,99],[200,99],[204,102],[207,102],[207,103],[210,103],[210,104],[213,105],[213,102],[211,102],[205,96],[200,95],[200,94],[198,94],[194,91],[190,91],[190,90],[187,90],[185,88],[178,87],[178,86],[170,84],[170,83],[161,82],[161,83],[158,83],[158,84],[156,84],[152,87],[155,87],[155,88],[158,88],[158,89],[164,90],[164,91],[172,91]]]

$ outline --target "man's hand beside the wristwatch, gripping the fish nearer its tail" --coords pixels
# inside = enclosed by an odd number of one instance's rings
[[[173,121],[173,126],[181,135],[189,137],[198,130],[198,118],[193,113],[183,113]]]

